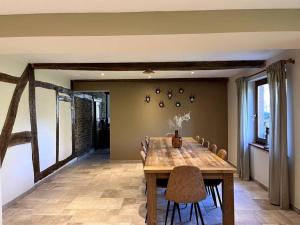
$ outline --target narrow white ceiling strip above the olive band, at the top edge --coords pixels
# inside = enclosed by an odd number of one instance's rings
[[[0,14],[300,8],[299,0],[1,0]]]

